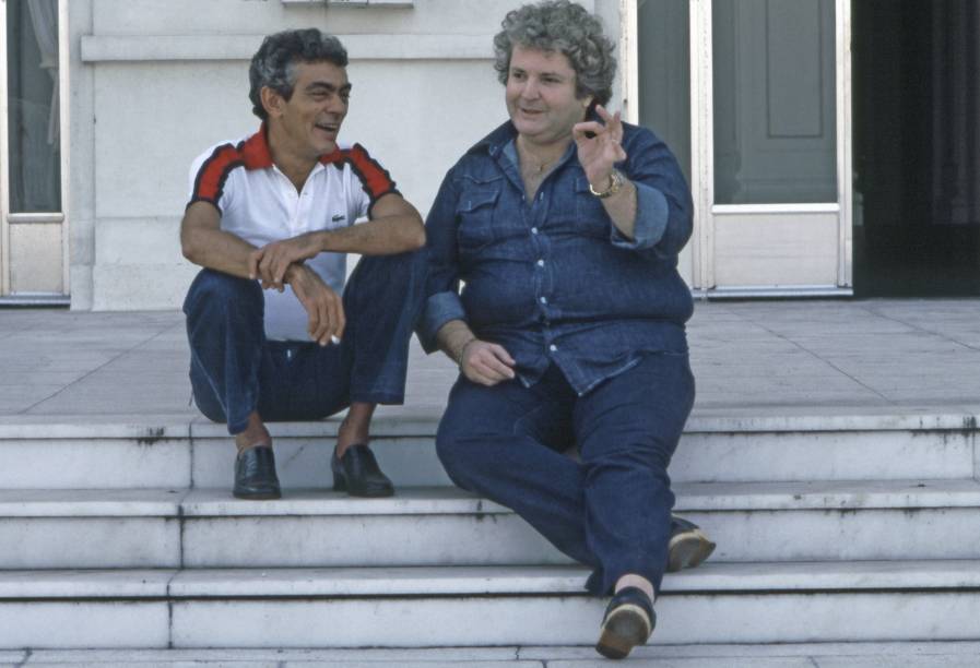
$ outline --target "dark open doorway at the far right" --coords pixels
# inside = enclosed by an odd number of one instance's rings
[[[854,291],[980,295],[980,1],[852,12]]]

